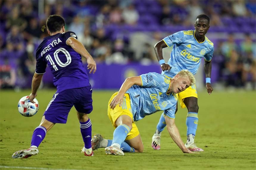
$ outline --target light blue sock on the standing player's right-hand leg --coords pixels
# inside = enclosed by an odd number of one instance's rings
[[[187,115],[187,135],[193,134],[196,135],[196,129],[197,129],[197,123],[198,123],[198,116],[196,112],[188,112]]]

